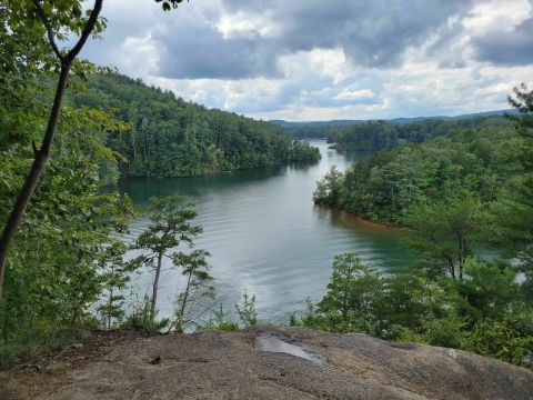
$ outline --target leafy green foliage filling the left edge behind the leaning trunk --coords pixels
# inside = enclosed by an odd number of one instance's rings
[[[163,8],[179,2],[164,1]],[[81,328],[97,327],[97,308],[108,329],[120,324],[123,290],[137,268],[124,262],[127,248],[118,239],[133,216],[132,204],[118,193],[101,191],[102,184],[118,178],[118,161],[125,161],[120,151],[104,144],[131,127],[114,119],[113,109],[61,107],[60,101],[48,121],[53,87],[61,99],[68,78],[84,79],[105,70],[77,59],[88,36],[98,37],[105,28],[105,20],[97,19],[102,1],[93,2],[94,10],[88,3],[0,2],[1,227],[33,160],[37,167],[28,182],[39,182],[33,196],[31,189],[19,197],[23,201],[14,210],[18,216],[26,211],[22,223],[19,217],[12,219],[9,234],[2,234],[4,250],[17,231],[0,288],[1,367],[56,348],[76,338]],[[64,49],[72,37],[79,38],[74,47]],[[54,76],[60,70],[58,84]],[[81,87],[73,79],[70,83],[74,91]],[[41,141],[39,149],[36,143]],[[3,277],[3,262],[1,267]],[[203,278],[198,269],[191,274]],[[139,314],[145,314],[142,309]],[[154,328],[151,314],[144,326]]]

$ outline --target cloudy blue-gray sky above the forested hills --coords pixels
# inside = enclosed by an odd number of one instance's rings
[[[104,0],[83,56],[209,108],[314,121],[507,109],[533,0]]]

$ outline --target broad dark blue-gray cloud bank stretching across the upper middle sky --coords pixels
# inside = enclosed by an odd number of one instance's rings
[[[274,36],[223,38],[212,24],[194,20],[174,24],[164,43],[162,76],[178,79],[241,79],[274,77],[280,54],[315,48],[342,48],[351,62],[388,68],[401,63],[406,47],[428,36],[457,13],[466,12],[470,0],[306,0],[270,2],[223,0],[234,16],[264,16],[275,23]]]

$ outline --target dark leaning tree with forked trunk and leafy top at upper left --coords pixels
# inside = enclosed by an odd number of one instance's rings
[[[161,2],[161,0],[155,1]],[[9,1],[7,6],[2,4],[1,14],[6,18],[2,21],[2,36],[23,33],[22,42],[28,40],[28,42],[36,44],[30,46],[30,50],[38,48],[39,53],[43,54],[41,60],[31,60],[33,61],[32,68],[39,68],[41,71],[56,71],[59,68],[59,79],[41,144],[38,147],[36,142],[32,142],[33,163],[17,196],[0,237],[0,297],[10,244],[50,158],[69,74],[71,69],[80,74],[87,72],[88,67],[90,69],[90,63],[77,62],[76,59],[89,37],[101,33],[105,28],[105,22],[99,20],[102,2],[103,0],[94,0],[92,10],[86,12],[87,17],[83,16],[82,1],[80,0],[18,0]],[[168,11],[171,6],[177,8],[181,2],[182,0],[164,0],[162,1],[162,8]],[[9,28],[6,29],[6,26]],[[61,50],[58,41],[68,39],[69,33],[79,36],[79,39],[70,50]],[[42,44],[42,38],[48,39],[50,47],[48,51],[42,47],[39,48],[39,44]],[[12,41],[12,43],[18,42],[17,40]],[[22,46],[24,44],[20,47]],[[24,61],[21,61],[20,64],[24,64]]]

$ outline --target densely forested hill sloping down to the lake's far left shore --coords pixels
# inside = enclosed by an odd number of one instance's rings
[[[288,131],[273,123],[209,110],[121,74],[92,76],[69,102],[115,109],[131,124],[107,138],[124,158],[123,177],[190,177],[320,158],[318,150],[291,143]]]

